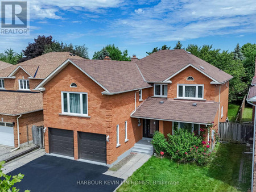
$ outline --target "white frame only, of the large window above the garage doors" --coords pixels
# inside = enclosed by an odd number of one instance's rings
[[[63,98],[63,93],[67,93],[67,104],[68,104],[68,112],[64,111],[64,98]],[[69,103],[69,94],[70,93],[76,93],[80,94],[80,113],[75,113],[75,112],[69,112],[70,111],[70,103]],[[83,114],[83,105],[82,105],[82,95],[86,95],[86,107],[87,107],[87,114]],[[84,92],[73,92],[73,91],[61,91],[61,113],[66,114],[66,115],[74,115],[74,116],[88,116],[88,93]]]

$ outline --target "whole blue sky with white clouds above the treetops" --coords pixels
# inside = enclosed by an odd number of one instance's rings
[[[139,58],[163,44],[213,44],[233,51],[256,43],[254,0],[52,0],[30,1],[30,36],[0,36],[3,52],[20,52],[38,35],[85,44],[89,57],[107,44]]]

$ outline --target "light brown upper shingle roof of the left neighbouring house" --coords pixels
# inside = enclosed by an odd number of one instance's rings
[[[18,66],[22,66],[27,73],[35,78],[46,78],[53,70],[55,70],[59,65],[61,65],[67,59],[82,59],[79,56],[70,55],[69,52],[51,52],[46,53],[42,56],[35,57],[24,62],[20,62],[11,68],[0,70],[0,77],[7,77],[13,70]],[[38,71],[36,72],[36,70]]]

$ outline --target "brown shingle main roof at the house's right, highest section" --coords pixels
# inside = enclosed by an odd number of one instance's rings
[[[160,50],[138,60],[137,64],[148,82],[164,81],[188,64],[192,64],[218,82],[224,82],[232,78],[230,74],[219,70],[183,49]],[[200,66],[203,66],[204,70]]]

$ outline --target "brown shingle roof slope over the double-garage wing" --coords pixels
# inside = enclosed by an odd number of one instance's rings
[[[144,82],[134,62],[85,59],[71,59],[71,61],[108,89],[110,93],[151,86]]]

